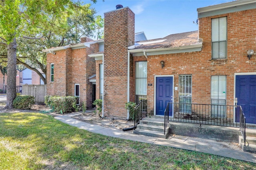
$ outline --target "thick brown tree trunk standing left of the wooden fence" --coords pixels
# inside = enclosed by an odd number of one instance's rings
[[[16,38],[7,45],[7,88],[5,109],[13,108],[13,100],[16,98]]]

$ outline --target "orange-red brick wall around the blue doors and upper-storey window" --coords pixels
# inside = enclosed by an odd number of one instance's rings
[[[227,16],[227,59],[211,59],[211,18]],[[174,87],[178,87],[181,74],[192,74],[192,103],[210,104],[211,76],[226,75],[226,104],[234,104],[234,73],[256,72],[256,56],[247,58],[248,49],[256,49],[256,10],[246,10],[220,16],[199,19],[200,52],[148,56],[147,86],[148,113],[154,110],[154,76],[174,75]],[[134,57],[134,62],[140,57]],[[141,57],[143,58],[143,56]],[[160,61],[165,61],[164,68]],[[174,102],[178,102],[178,90],[174,90]]]

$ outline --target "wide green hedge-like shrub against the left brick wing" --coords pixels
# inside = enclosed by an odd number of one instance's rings
[[[57,113],[70,113],[79,109],[76,106],[77,97],[75,96],[45,96],[44,102]]]

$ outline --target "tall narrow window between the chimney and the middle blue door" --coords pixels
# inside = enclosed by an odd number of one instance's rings
[[[135,94],[136,103],[138,104],[141,100],[147,98],[147,61],[138,61],[135,67]]]

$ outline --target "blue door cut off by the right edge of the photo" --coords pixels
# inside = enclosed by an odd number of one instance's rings
[[[246,123],[256,124],[256,75],[236,76],[236,98],[237,105],[242,106]]]

